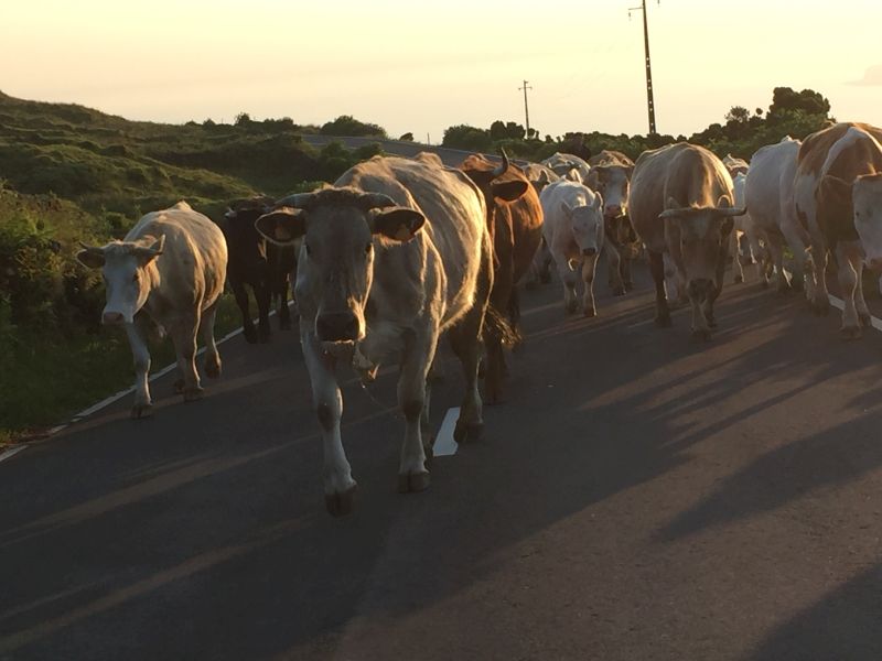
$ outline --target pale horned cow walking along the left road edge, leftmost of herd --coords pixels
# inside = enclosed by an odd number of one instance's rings
[[[207,353],[205,373],[220,376],[220,357],[214,342],[217,300],[224,291],[227,246],[220,229],[185,202],[143,216],[121,241],[103,247],[83,246],[77,259],[101,269],[107,304],[105,325],[123,326],[135,357],[132,418],[150,415],[148,386],[150,354],[136,315],[144,311],[174,343],[178,355],[175,389],[184,401],[202,397],[196,371],[196,334]]]

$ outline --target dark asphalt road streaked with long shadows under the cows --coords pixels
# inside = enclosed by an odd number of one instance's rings
[[[882,659],[882,334],[749,283],[693,344],[639,275],[594,319],[525,293],[508,400],[426,492],[395,376],[349,382],[348,518],[290,333],[0,463],[0,659]]]

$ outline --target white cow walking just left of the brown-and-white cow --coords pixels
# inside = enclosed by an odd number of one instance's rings
[[[760,148],[751,156],[751,170],[744,184],[744,202],[760,238],[763,239],[777,272],[777,290],[786,292],[793,286],[803,288],[804,274],[809,267],[806,249],[810,243],[808,234],[799,224],[794,206],[794,175],[800,142],[786,136],[776,144]],[[784,242],[794,256],[793,281],[784,274]],[[761,270],[764,282],[768,281],[768,269]],[[806,295],[811,297],[813,280],[805,278]]]

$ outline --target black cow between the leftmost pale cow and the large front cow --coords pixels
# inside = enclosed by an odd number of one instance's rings
[[[297,272],[297,249],[267,241],[255,228],[255,220],[273,208],[268,197],[255,197],[233,203],[224,216],[222,229],[227,240],[227,282],[241,311],[245,339],[250,344],[269,342],[269,308],[279,300],[279,326],[291,328],[288,310],[288,281]],[[258,326],[255,328],[248,312],[248,284],[257,300]]]

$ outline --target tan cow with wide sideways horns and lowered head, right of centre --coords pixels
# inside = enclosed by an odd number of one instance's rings
[[[702,147],[680,142],[646,151],[631,182],[631,219],[649,252],[657,326],[670,325],[664,254],[670,254],[692,305],[692,336],[709,339],[716,326],[733,216],[732,177]]]

